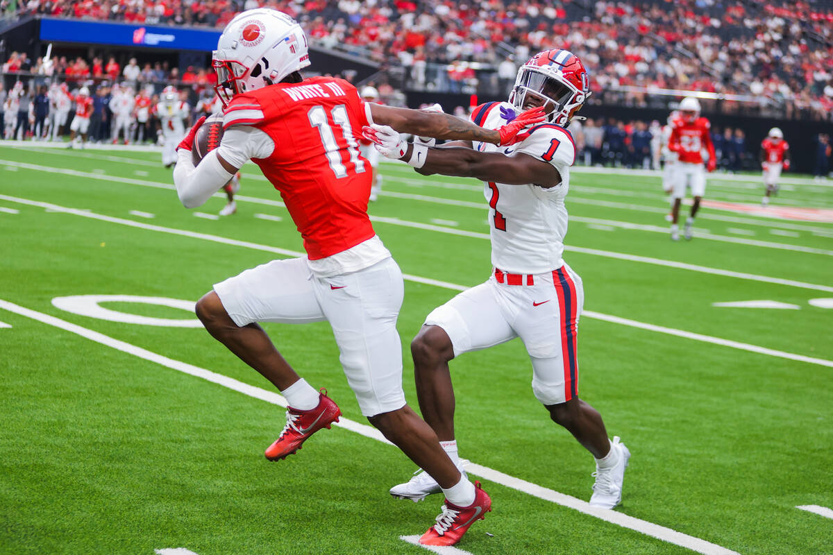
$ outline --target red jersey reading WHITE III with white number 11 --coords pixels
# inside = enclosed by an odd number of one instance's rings
[[[358,150],[366,109],[356,87],[334,77],[263,87],[226,107],[224,127],[257,127],[274,141],[271,156],[252,161],[281,192],[310,260],[376,235],[367,216],[371,166]]]

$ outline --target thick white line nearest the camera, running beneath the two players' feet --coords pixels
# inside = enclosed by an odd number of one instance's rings
[[[157,354],[147,349],[142,349],[141,347],[137,347],[134,344],[130,344],[119,339],[114,339],[109,335],[101,334],[97,331],[83,328],[80,325],[72,324],[71,322],[67,322],[66,320],[61,320],[54,316],[43,314],[42,312],[30,310],[20,305],[15,305],[11,302],[8,302],[7,300],[0,300],[0,309],[8,310],[9,312],[13,312],[14,314],[22,315],[27,318],[31,318],[32,320],[42,322],[43,324],[51,325],[61,330],[65,330],[73,334],[80,335],[83,338],[90,339],[99,344],[106,345],[107,347],[111,347],[112,349],[117,349],[124,353],[132,354],[133,356],[137,356],[140,359],[145,359],[153,363],[160,364],[162,366],[177,370],[184,374],[189,374],[197,378],[206,379],[207,381],[212,382],[213,384],[218,384],[228,389],[233,389],[234,391],[246,394],[254,399],[261,399],[263,401],[266,401],[267,403],[276,404],[277,406],[283,408],[286,408],[287,406],[286,399],[284,399],[281,395],[275,393],[274,391],[267,391],[266,389],[261,389],[253,385],[245,384],[237,379],[229,378],[228,376],[225,376],[223,374],[217,374],[216,372],[212,372],[211,370],[194,366],[193,364],[187,364],[179,360],[169,359],[168,357],[162,354]],[[365,437],[377,439],[379,441],[382,441],[383,443],[390,444],[390,442],[388,442],[387,439],[384,439],[382,437],[382,434],[377,429],[372,428],[367,424],[360,424],[353,420],[342,417],[341,421],[336,423],[335,425],[340,428],[349,429],[352,432],[356,432],[357,434],[361,434]],[[525,480],[522,480],[520,478],[515,478],[513,476],[510,476],[509,474],[501,473],[497,470],[481,466],[479,464],[468,464],[466,466],[466,471],[471,474],[481,476],[482,478],[491,480],[492,482],[500,483],[501,485],[506,486],[507,488],[512,488],[524,493],[529,493],[537,498],[545,499],[546,501],[551,501],[552,503],[559,504],[563,507],[575,509],[580,513],[584,513],[591,517],[598,518],[607,523],[616,524],[618,526],[621,526],[622,528],[629,528],[636,532],[651,536],[652,538],[660,539],[663,542],[673,543],[683,548],[691,549],[692,551],[695,551],[697,553],[704,553],[704,555],[730,555],[736,553],[729,549],[722,548],[721,546],[716,545],[714,543],[706,542],[705,540],[702,540],[700,538],[695,538],[693,536],[677,532],[676,530],[660,526],[659,524],[649,523],[639,518],[630,517],[624,513],[618,513],[616,511],[611,511],[608,509],[591,507],[590,503],[582,501],[581,499],[565,495],[564,493],[558,493],[555,490],[544,488],[535,483],[526,482]],[[449,555],[451,555],[451,553],[449,553]]]

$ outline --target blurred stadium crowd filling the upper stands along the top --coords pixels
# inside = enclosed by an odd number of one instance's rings
[[[322,46],[401,65],[415,88],[466,90],[484,67],[503,84],[558,37],[585,61],[592,88],[614,102],[640,106],[652,90],[700,90],[767,99],[788,117],[833,111],[833,7],[821,0],[30,0],[18,9],[222,27],[261,5],[297,17]]]

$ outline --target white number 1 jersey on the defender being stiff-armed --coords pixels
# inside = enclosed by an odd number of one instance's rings
[[[506,125],[505,114],[514,114],[508,102],[478,107],[471,120],[486,129]],[[532,126],[518,135],[520,142],[495,146],[475,142],[483,152],[523,153],[555,166],[561,183],[545,189],[536,185],[486,183],[483,194],[489,202],[491,264],[518,274],[541,274],[564,265],[567,211],[564,199],[570,187],[570,166],[576,161],[576,146],[566,129],[552,123]]]

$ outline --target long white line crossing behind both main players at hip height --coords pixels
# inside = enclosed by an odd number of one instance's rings
[[[12,202],[20,202],[21,204],[25,204],[25,205],[29,205],[29,206],[40,206],[42,208],[51,208],[52,210],[64,212],[64,213],[67,213],[67,214],[72,214],[74,216],[82,216],[82,217],[86,217],[86,218],[92,218],[94,220],[107,221],[107,222],[121,224],[121,225],[129,225],[131,227],[137,227],[137,228],[141,228],[141,229],[145,229],[145,230],[160,231],[162,233],[169,233],[169,234],[172,234],[172,235],[182,235],[182,236],[186,236],[186,237],[192,237],[193,239],[210,240],[212,242],[222,243],[224,245],[242,246],[242,247],[246,247],[246,248],[249,248],[249,249],[264,250],[264,251],[267,251],[267,252],[272,252],[272,253],[275,253],[275,254],[286,255],[286,256],[305,256],[304,253],[297,252],[295,250],[281,249],[281,248],[274,247],[274,246],[271,246],[271,245],[259,245],[257,243],[251,243],[249,241],[242,241],[242,240],[236,240],[236,239],[229,239],[227,237],[222,237],[222,236],[219,236],[219,235],[210,235],[210,234],[207,234],[207,233],[197,233],[197,232],[194,232],[194,231],[179,230],[179,229],[171,228],[171,227],[163,227],[162,225],[146,224],[146,223],[143,223],[141,221],[124,220],[122,218],[115,218],[115,217],[112,217],[112,216],[104,216],[102,214],[96,214],[95,212],[79,211],[79,210],[75,210],[73,208],[66,208],[66,207],[63,207],[63,206],[52,205],[51,203],[48,203],[48,202],[28,201],[26,199],[17,199],[16,197],[10,197],[10,196],[5,196],[5,195],[0,195],[0,199],[6,200],[6,201],[12,201]],[[432,280],[431,278],[423,278],[423,277],[415,276],[415,275],[404,275],[403,277],[406,280],[409,280],[409,281],[415,281],[417,283],[426,284],[426,285],[436,285],[438,287],[442,287],[442,288],[450,289],[450,290],[463,291],[463,290],[469,289],[469,286],[466,286],[466,285],[453,284],[453,283],[449,283],[447,281]],[[788,284],[785,284],[785,285],[788,285]],[[833,289],[833,288],[831,288],[831,289]],[[785,351],[780,351],[780,350],[776,350],[776,349],[768,349],[766,347],[760,347],[758,345],[741,343],[739,341],[733,341],[731,339],[722,339],[720,337],[713,337],[711,335],[696,334],[696,333],[692,333],[692,332],[685,331],[685,330],[676,330],[674,328],[666,328],[664,326],[658,326],[658,325],[653,325],[653,324],[645,324],[643,322],[638,322],[636,320],[628,320],[626,318],[620,318],[619,316],[605,315],[605,314],[602,314],[600,312],[593,312],[591,310],[585,310],[583,315],[586,318],[593,318],[593,319],[596,319],[596,320],[605,320],[607,322],[612,322],[614,324],[627,325],[627,326],[634,327],[634,328],[640,328],[642,330],[656,331],[656,332],[663,333],[663,334],[676,335],[678,337],[683,337],[683,338],[686,338],[686,339],[695,339],[697,341],[704,341],[706,343],[724,345],[724,346],[727,346],[727,347],[731,347],[733,349],[746,350],[746,351],[750,351],[752,353],[767,354],[769,356],[775,356],[775,357],[779,357],[779,358],[782,358],[782,359],[797,360],[797,361],[800,361],[800,362],[806,362],[806,363],[809,363],[809,364],[819,364],[821,366],[826,366],[826,367],[829,367],[829,368],[833,368],[833,362],[831,362],[830,360],[826,360],[826,359],[816,359],[816,358],[813,358],[813,357],[804,356],[802,354],[793,354],[793,353],[787,353]]]

